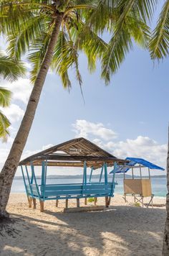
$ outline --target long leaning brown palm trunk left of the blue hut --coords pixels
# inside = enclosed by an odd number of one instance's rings
[[[24,150],[29,131],[32,127],[32,122],[34,120],[34,115],[37,109],[44,81],[49,70],[49,65],[52,62],[54,46],[57,42],[62,18],[63,14],[57,14],[57,17],[55,18],[55,25],[47,48],[47,53],[44,57],[44,61],[34,83],[34,88],[29,98],[24,118],[22,119],[21,126],[19,127],[19,131],[16,134],[14,143],[9,152],[9,156],[7,157],[6,163],[4,164],[4,168],[2,168],[0,173],[0,217],[9,216],[9,214],[6,212],[6,205],[9,200],[11,184],[16,173],[16,168],[19,165],[19,160]]]

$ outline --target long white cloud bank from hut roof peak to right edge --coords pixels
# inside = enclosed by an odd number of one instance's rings
[[[77,120],[73,124],[76,137],[88,138],[99,147],[115,155],[115,157],[125,159],[125,157],[143,157],[150,162],[166,166],[167,145],[160,145],[150,137],[137,136],[135,139],[125,141],[114,140],[117,134],[112,129],[107,129],[103,124]]]

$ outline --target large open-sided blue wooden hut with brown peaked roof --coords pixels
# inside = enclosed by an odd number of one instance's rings
[[[36,208],[36,199],[39,199],[40,209],[44,211],[44,201],[61,199],[66,200],[76,198],[79,206],[79,198],[84,198],[87,204],[87,198],[105,197],[105,205],[109,206],[110,199],[115,190],[115,172],[111,182],[107,179],[107,167],[117,164],[124,164],[125,160],[120,160],[109,152],[102,150],[94,143],[84,138],[69,140],[62,144],[50,147],[47,150],[21,160],[22,175],[26,195],[29,200],[29,207]],[[48,184],[47,171],[50,167],[70,167],[83,168],[82,183],[69,184]],[[40,184],[37,183],[36,168],[41,169]],[[87,168],[90,168],[90,178],[87,179]],[[92,181],[94,170],[100,168],[100,179]],[[103,180],[103,181],[102,181]],[[38,180],[39,181],[39,180]]]

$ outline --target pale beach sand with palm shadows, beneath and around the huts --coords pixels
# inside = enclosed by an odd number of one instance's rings
[[[100,198],[97,204],[104,203]],[[165,204],[165,198],[155,198],[154,203]],[[54,201],[47,201],[41,213],[38,203],[37,209],[28,208],[24,194],[11,194],[7,210],[18,232],[13,237],[3,232],[0,255],[161,255],[165,207],[137,207],[120,195],[106,211],[63,213],[64,204],[59,201],[56,208]],[[69,206],[75,205],[69,201]]]

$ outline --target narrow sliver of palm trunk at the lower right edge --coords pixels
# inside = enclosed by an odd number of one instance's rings
[[[167,158],[167,188],[168,194],[166,196],[166,221],[164,229],[164,238],[163,238],[163,256],[169,255],[169,127],[168,127],[168,158]]]

